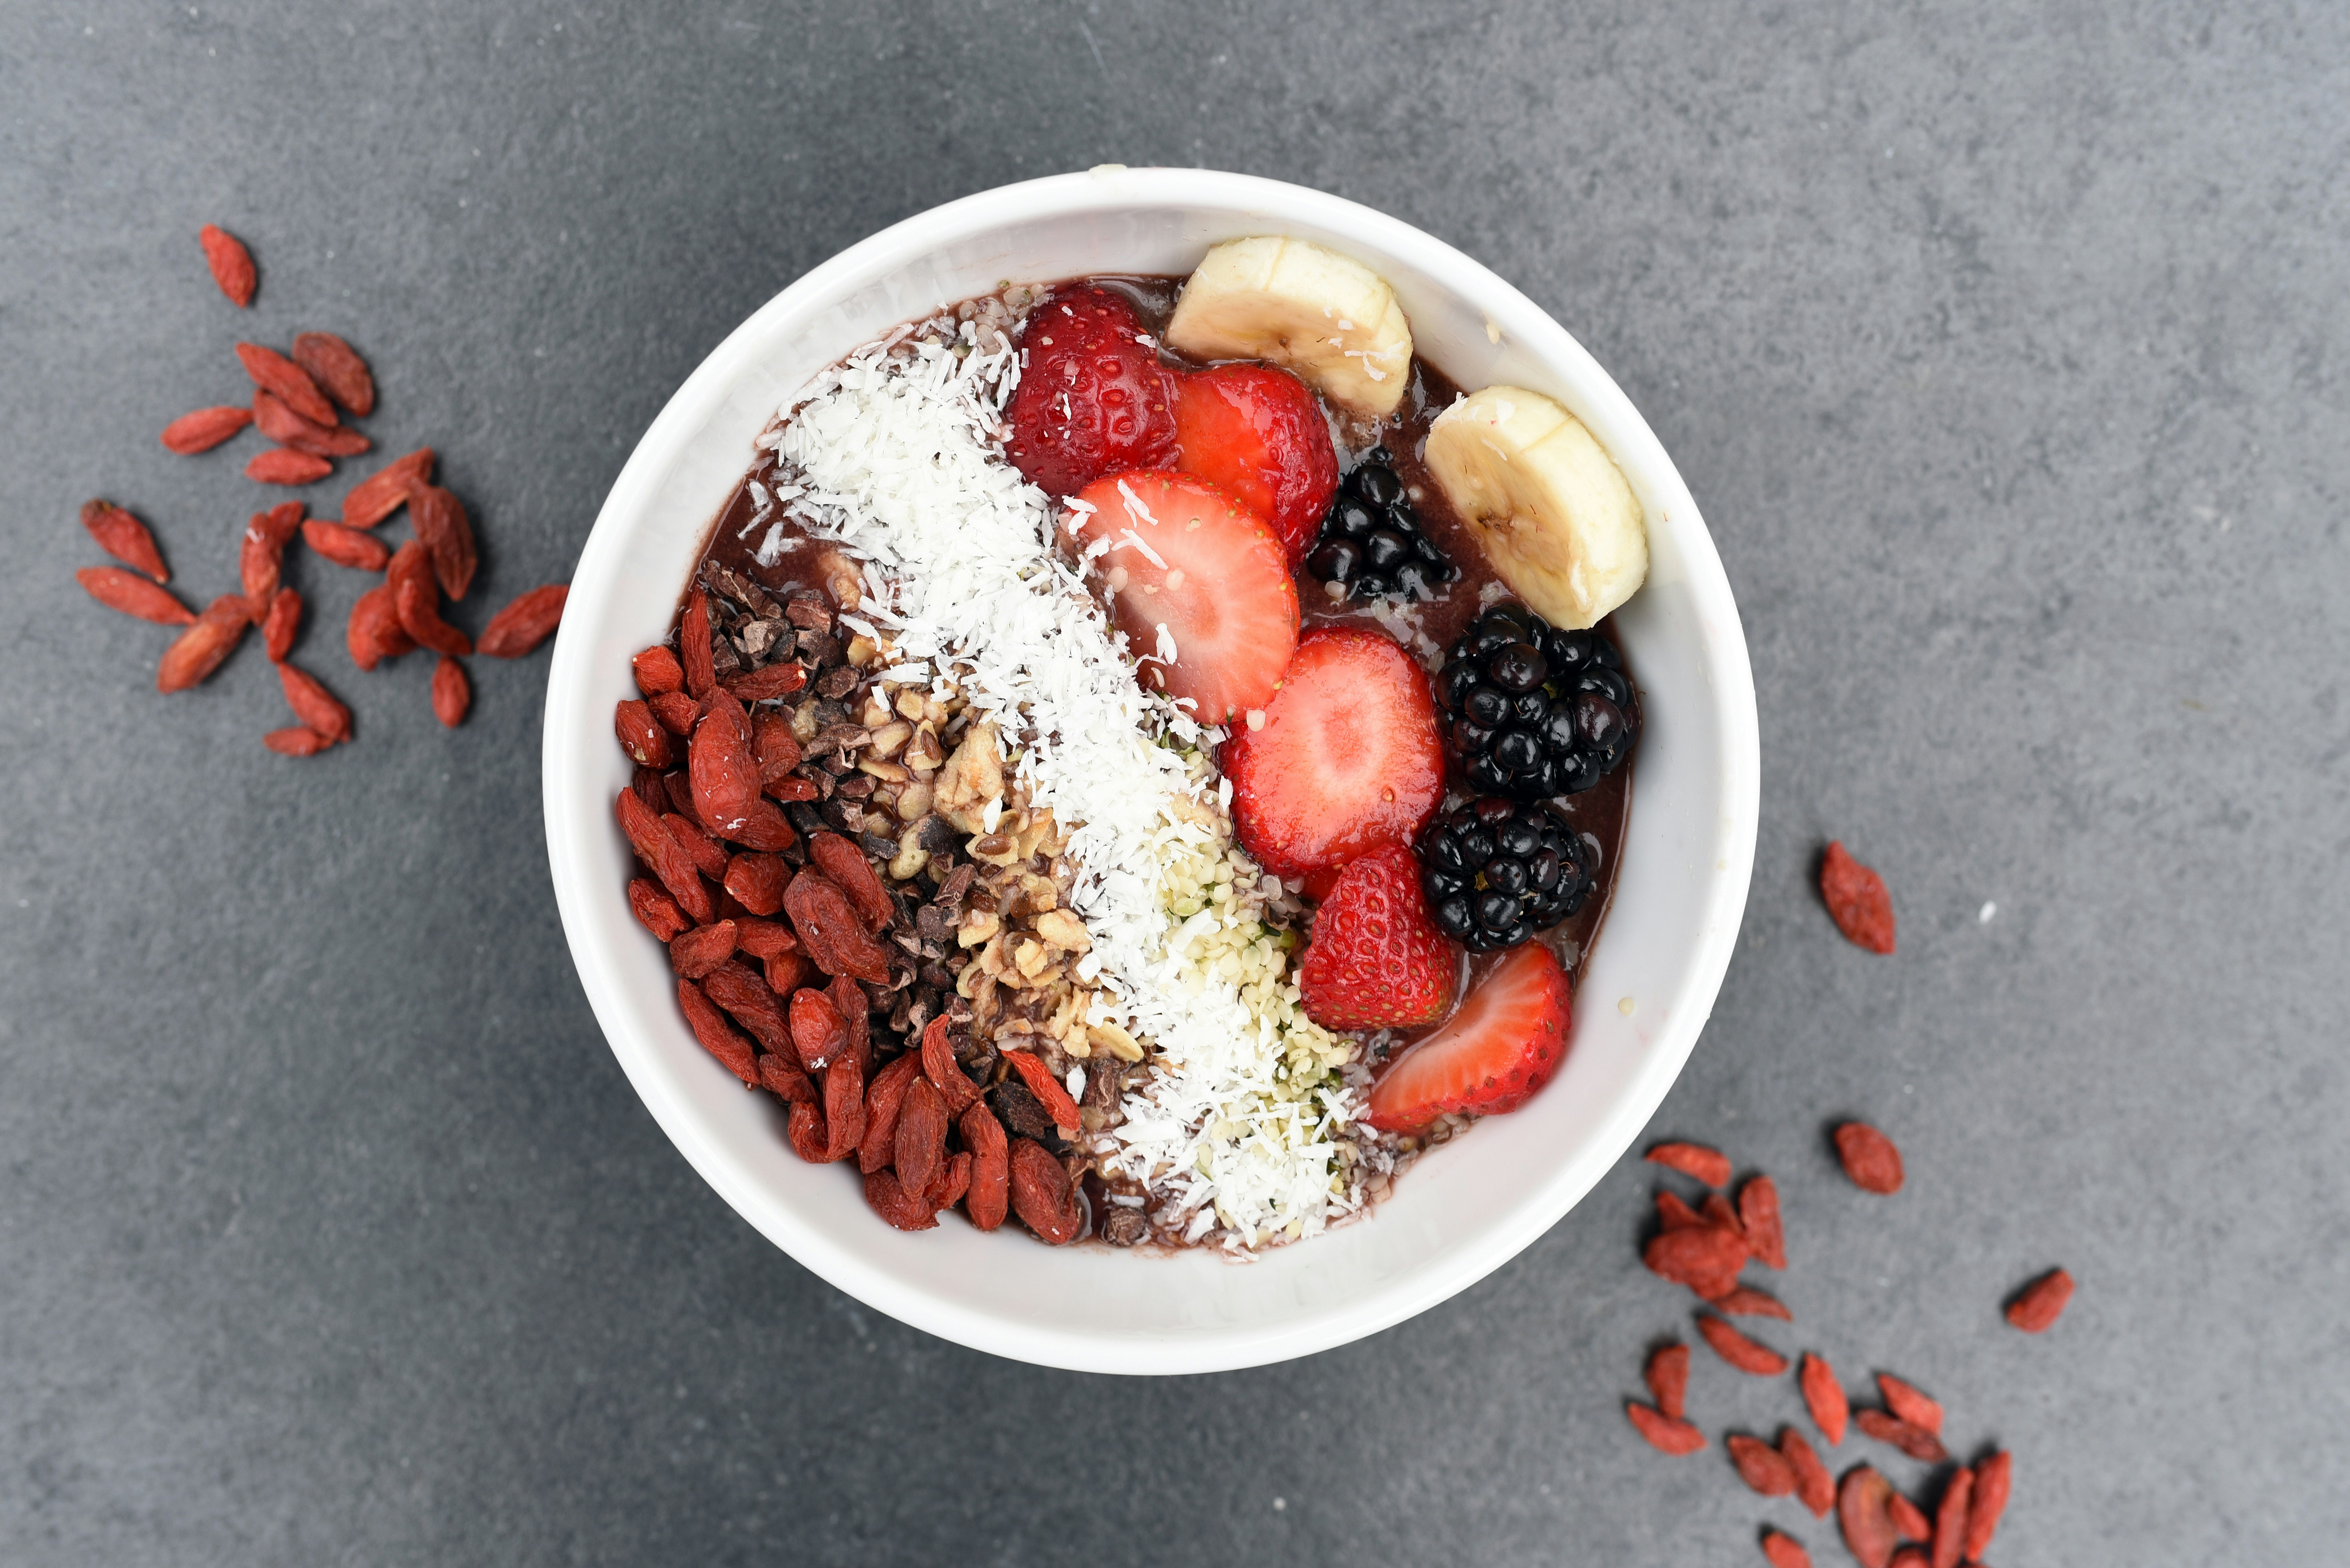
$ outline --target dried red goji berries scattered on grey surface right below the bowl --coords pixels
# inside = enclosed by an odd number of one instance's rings
[[[1873,953],[1894,951],[1892,899],[1875,871],[1868,871],[1842,845],[1828,845],[1821,866],[1821,894],[1838,927]],[[1866,1122],[1835,1127],[1835,1153],[1845,1176],[1864,1192],[1892,1195],[1901,1190],[1901,1150]],[[1699,1143],[1659,1143],[1647,1150],[1652,1164],[1694,1176],[1708,1190],[1697,1209],[1673,1190],[1657,1192],[1657,1235],[1640,1253],[1650,1272],[1673,1284],[1687,1286],[1706,1310],[1697,1312],[1697,1331],[1730,1366],[1755,1378],[1779,1378],[1788,1371],[1788,1359],[1732,1326],[1732,1317],[1772,1317],[1793,1322],[1793,1314],[1774,1296],[1741,1284],[1746,1263],[1772,1270],[1786,1268],[1786,1235],[1779,1223],[1779,1188],[1770,1176],[1748,1176],[1730,1202],[1732,1167],[1713,1148]],[[2028,1333],[2040,1333],[2056,1322],[2073,1296],[2073,1277],[2061,1268],[2030,1282],[2007,1305],[2007,1322]],[[1664,1345],[1647,1357],[1643,1368],[1654,1404],[1626,1404],[1631,1425],[1664,1453],[1697,1453],[1706,1446],[1706,1434],[1687,1418],[1690,1347]],[[1878,1373],[1878,1397],[1882,1406],[1852,1408],[1845,1385],[1828,1361],[1817,1352],[1805,1352],[1795,1371],[1795,1387],[1819,1437],[1835,1448],[1845,1441],[1847,1425],[1866,1437],[1899,1448],[1922,1465],[1946,1465],[1950,1451],[1943,1446],[1941,1404],[1922,1394],[1915,1385]],[[1746,1432],[1730,1432],[1723,1439],[1739,1479],[1765,1498],[1795,1498],[1814,1519],[1826,1519],[1835,1509],[1838,1528],[1852,1556],[1864,1568],[1960,1568],[1981,1566],[1990,1535],[2007,1507],[2012,1460],[2005,1451],[1988,1453],[1974,1465],[1958,1465],[1941,1483],[1932,1516],[1873,1465],[1854,1465],[1842,1479],[1831,1476],[1819,1451],[1802,1432],[1779,1427],[1777,1441],[1765,1441]],[[1812,1554],[1793,1535],[1777,1528],[1762,1530],[1762,1556],[1772,1568],[1810,1568]]]

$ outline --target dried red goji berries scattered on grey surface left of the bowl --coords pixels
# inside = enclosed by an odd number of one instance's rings
[[[214,282],[240,310],[251,305],[258,272],[251,254],[228,232],[204,225],[200,242]],[[273,441],[244,465],[261,484],[308,486],[334,472],[334,458],[355,458],[371,448],[369,439],[343,423],[343,415],[367,418],[376,408],[376,380],[360,354],[334,333],[301,333],[291,357],[256,343],[237,345],[237,361],[254,383],[251,404],[197,408],[172,420],[162,444],[193,455],[221,446],[247,425]],[[407,507],[414,538],[397,552],[371,528]],[[564,584],[536,587],[489,617],[479,638],[465,636],[442,620],[442,596],[458,601],[472,587],[479,561],[472,519],[449,491],[432,484],[432,448],[421,448],[362,479],[343,498],[341,519],[308,516],[301,500],[287,500],[256,512],[237,549],[237,594],[221,594],[197,615],[162,584],[172,573],[162,563],[155,535],[127,509],[92,500],[82,507],[82,526],[99,549],[134,570],[92,566],[75,577],[92,599],[110,610],[136,615],[164,627],[186,627],[164,648],[155,669],[155,690],[179,692],[209,678],[249,627],[261,629],[287,707],[298,723],[261,737],[270,751],[315,756],[350,739],[345,707],[310,671],[289,660],[301,631],[301,594],[282,582],[284,552],[298,535],[315,554],[364,573],[383,573],[383,582],[350,610],[345,634],[350,657],[360,669],[416,648],[439,655],[432,669],[432,714],[444,725],[465,718],[472,683],[461,657],[517,660],[555,631],[564,613]],[[143,573],[143,577],[139,575]]]

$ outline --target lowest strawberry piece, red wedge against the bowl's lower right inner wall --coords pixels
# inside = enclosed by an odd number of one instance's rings
[[[1370,1087],[1368,1120],[1382,1131],[1410,1131],[1452,1110],[1516,1110],[1558,1073],[1572,1030],[1558,953],[1539,941],[1511,948],[1450,1023],[1386,1063]]]

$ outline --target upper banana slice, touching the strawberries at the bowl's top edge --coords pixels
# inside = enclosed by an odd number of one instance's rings
[[[1196,359],[1269,359],[1363,413],[1394,413],[1412,378],[1412,324],[1396,291],[1361,261],[1304,239],[1227,239],[1208,251],[1166,340]]]

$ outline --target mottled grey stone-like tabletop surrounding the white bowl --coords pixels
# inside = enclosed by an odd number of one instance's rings
[[[1462,244],[1706,507],[1765,812],[1657,1131],[1779,1176],[1798,1324],[1765,1338],[2012,1446],[2002,1568],[2334,1556],[2350,9],[881,9],[0,14],[0,1559],[1760,1563],[1770,1519],[1845,1561],[1617,1413],[1687,1331],[1638,1164],[1457,1300],[1267,1371],[1058,1376],[865,1312],[597,1035],[545,655],[475,662],[444,732],[423,662],[350,667],[360,580],[296,556],[296,657],[360,742],[287,763],[258,646],[162,699],[167,634],[70,582],[103,493],[183,592],[235,587],[244,448],[155,432],[242,397],[233,338],[327,326],[378,444],[444,453],[503,603],[801,270],[1104,160]],[[247,315],[204,221],[261,258]],[[1828,930],[1828,836],[1892,883],[1899,958]],[[1833,1174],[1849,1113],[1901,1197]],[[2066,1322],[2005,1329],[2059,1261]],[[1795,1413],[1704,1350],[1692,1406],[1716,1439]]]

